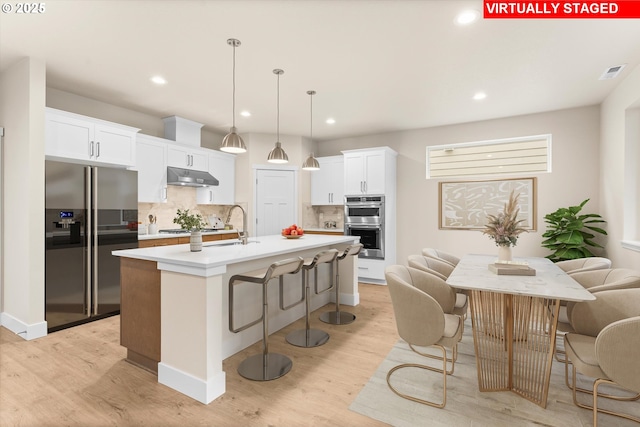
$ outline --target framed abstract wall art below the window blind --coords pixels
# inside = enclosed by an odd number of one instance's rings
[[[522,226],[536,230],[536,178],[486,181],[441,182],[439,187],[439,228],[482,230],[487,214],[496,215],[509,200],[511,191],[519,194],[518,219]]]

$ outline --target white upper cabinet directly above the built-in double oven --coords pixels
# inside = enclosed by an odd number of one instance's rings
[[[389,147],[343,151],[346,195],[395,191],[396,156]],[[393,183],[393,186],[391,186]]]

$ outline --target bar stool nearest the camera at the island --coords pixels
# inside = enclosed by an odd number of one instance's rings
[[[238,366],[238,373],[254,381],[275,380],[291,370],[293,362],[287,356],[269,353],[269,307],[267,304],[267,284],[278,277],[282,285],[285,274],[295,274],[300,271],[304,260],[301,257],[289,258],[274,262],[266,270],[235,274],[229,279],[229,330],[233,333],[262,322],[262,354],[255,354],[246,358]],[[233,289],[235,282],[250,282],[262,285],[262,316],[239,328],[233,322]]]

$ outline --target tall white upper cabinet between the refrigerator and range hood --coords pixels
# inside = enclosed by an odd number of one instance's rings
[[[138,135],[138,202],[167,202],[167,144],[162,141],[160,138]]]

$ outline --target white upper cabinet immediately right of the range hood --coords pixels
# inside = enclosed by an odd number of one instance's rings
[[[216,150],[208,151],[209,173],[218,185],[196,190],[199,205],[233,205],[236,196],[236,156]]]

